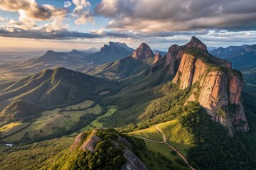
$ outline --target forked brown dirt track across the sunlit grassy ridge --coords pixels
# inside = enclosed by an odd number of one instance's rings
[[[186,159],[186,157],[183,156],[183,154],[181,154],[181,152],[179,152],[177,149],[175,149],[173,146],[171,146],[168,142],[167,142],[167,138],[166,138],[166,135],[164,134],[164,132],[159,129],[159,127],[156,125],[156,129],[159,130],[159,132],[161,132],[161,135],[163,135],[163,138],[164,138],[164,141],[163,142],[159,142],[159,141],[155,141],[155,140],[149,140],[149,139],[146,139],[145,137],[139,137],[137,135],[134,135],[135,137],[138,137],[138,138],[141,138],[143,140],[148,140],[150,142],[155,142],[155,143],[165,143],[166,145],[168,145],[169,147],[171,147],[171,149],[173,149],[177,154],[178,156],[180,156],[184,162],[186,162],[186,164],[188,165],[188,167],[192,170],[196,170],[194,169],[189,163],[188,163],[188,160]]]

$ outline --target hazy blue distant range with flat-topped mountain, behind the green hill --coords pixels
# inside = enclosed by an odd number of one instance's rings
[[[42,69],[54,69],[66,67],[81,71],[91,65],[104,64],[114,60],[122,59],[132,53],[133,49],[121,42],[109,42],[98,51],[96,48],[88,50],[72,50],[70,52],[55,52],[48,50],[41,57],[25,61],[18,66],[11,68],[11,72],[36,73]]]

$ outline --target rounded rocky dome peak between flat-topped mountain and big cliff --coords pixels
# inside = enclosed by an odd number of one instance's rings
[[[136,50],[134,50],[132,57],[143,60],[145,58],[154,57],[154,53],[149,45],[142,43]]]

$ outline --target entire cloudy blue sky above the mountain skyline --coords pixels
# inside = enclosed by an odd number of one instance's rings
[[[0,0],[0,50],[256,44],[255,0]]]

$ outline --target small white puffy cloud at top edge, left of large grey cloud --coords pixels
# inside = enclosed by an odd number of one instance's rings
[[[76,18],[75,24],[81,25],[87,22],[93,23],[92,14],[90,11],[90,2],[87,0],[73,0],[75,8],[73,10],[72,16]]]

